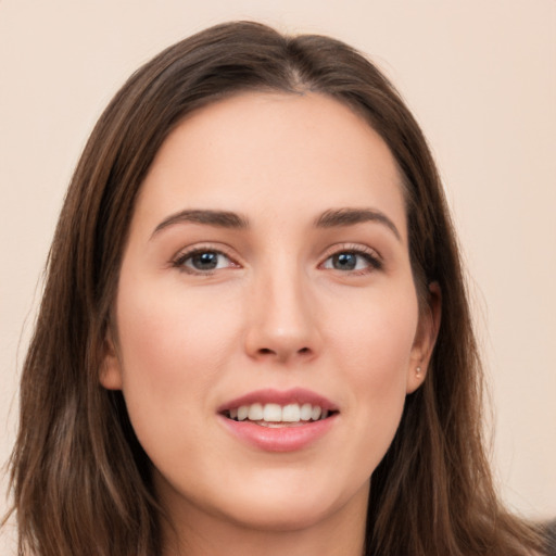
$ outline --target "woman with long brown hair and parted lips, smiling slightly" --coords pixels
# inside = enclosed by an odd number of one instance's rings
[[[70,187],[22,378],[33,555],[525,555],[416,122],[254,23],[140,68]]]

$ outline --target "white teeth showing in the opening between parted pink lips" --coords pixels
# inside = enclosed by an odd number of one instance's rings
[[[225,409],[222,415],[233,421],[249,421],[261,427],[281,428],[300,427],[309,422],[321,421],[337,413],[337,410],[308,402],[283,405],[255,402]]]

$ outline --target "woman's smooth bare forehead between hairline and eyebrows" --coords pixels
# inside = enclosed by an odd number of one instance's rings
[[[137,212],[216,208],[312,218],[372,206],[405,236],[402,179],[381,137],[319,93],[245,92],[186,117],[163,143]]]

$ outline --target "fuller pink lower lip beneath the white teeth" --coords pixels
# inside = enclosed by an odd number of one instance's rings
[[[219,418],[239,440],[266,452],[294,452],[309,446],[324,437],[333,426],[338,414],[319,421],[293,427],[264,427],[251,421],[235,421],[224,415]]]

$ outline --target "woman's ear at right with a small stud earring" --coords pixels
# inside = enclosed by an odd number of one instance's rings
[[[432,350],[437,343],[442,309],[442,292],[438,282],[429,285],[427,304],[420,311],[419,324],[415,334],[409,367],[407,369],[407,393],[415,392],[427,376]]]

